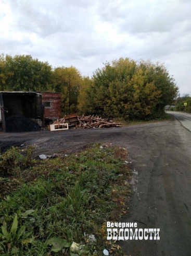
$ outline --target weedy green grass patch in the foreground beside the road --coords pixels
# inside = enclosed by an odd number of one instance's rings
[[[77,256],[110,250],[105,223],[128,210],[126,150],[93,144],[77,155],[45,160],[32,159],[30,152],[24,156],[11,148],[1,155],[17,169],[0,174],[0,254]],[[90,243],[84,234],[96,241]],[[83,249],[73,253],[73,242]]]

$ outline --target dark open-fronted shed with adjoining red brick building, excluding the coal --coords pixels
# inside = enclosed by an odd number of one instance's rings
[[[60,94],[58,92],[0,91],[0,122],[6,131],[10,116],[22,115],[30,119],[60,118]]]

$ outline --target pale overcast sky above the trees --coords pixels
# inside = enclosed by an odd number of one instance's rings
[[[164,62],[191,95],[190,0],[0,0],[0,54],[92,76],[103,62]]]

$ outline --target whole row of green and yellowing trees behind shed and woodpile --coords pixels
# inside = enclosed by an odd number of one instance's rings
[[[120,58],[86,77],[73,66],[53,68],[31,55],[1,54],[0,90],[60,92],[62,114],[70,111],[132,120],[160,118],[178,87],[164,64],[150,60]]]

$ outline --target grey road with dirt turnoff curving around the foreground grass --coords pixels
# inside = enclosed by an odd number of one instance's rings
[[[12,143],[36,144],[36,155],[75,152],[93,142],[114,143],[130,152],[134,193],[131,214],[123,222],[139,220],[160,228],[160,240],[120,242],[126,255],[190,256],[191,133],[175,118],[113,129],[0,134],[2,150]]]

